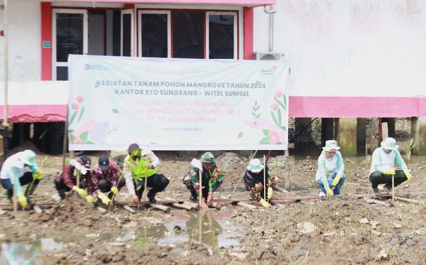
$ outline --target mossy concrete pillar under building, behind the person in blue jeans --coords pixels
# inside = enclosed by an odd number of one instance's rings
[[[356,156],[357,118],[339,118],[337,144],[344,157]]]

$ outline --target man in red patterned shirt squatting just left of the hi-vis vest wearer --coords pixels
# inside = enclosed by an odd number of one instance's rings
[[[117,195],[118,191],[126,184],[124,178],[118,181],[118,167],[114,161],[109,161],[108,157],[102,155],[99,157],[99,163],[92,169],[92,181],[90,185],[93,187],[93,193],[104,204],[109,204],[113,195]],[[90,191],[89,191],[90,189]],[[87,189],[89,195],[86,197],[87,202],[92,202],[92,189]],[[111,191],[108,197],[104,192]]]

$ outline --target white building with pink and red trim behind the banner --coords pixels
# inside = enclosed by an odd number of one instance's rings
[[[52,122],[66,117],[68,54],[251,60],[273,49],[290,61],[290,117],[324,118],[324,140],[333,135],[327,122],[340,118],[337,138],[347,146],[356,146],[363,118],[414,117],[416,151],[426,153],[423,1],[8,3],[8,117],[22,132],[17,141],[28,135],[29,122],[36,122],[35,134],[61,138],[63,124]],[[0,16],[2,30],[3,9]],[[0,54],[3,49],[0,37]],[[4,80],[3,60],[0,68]],[[3,95],[3,82],[0,87]]]

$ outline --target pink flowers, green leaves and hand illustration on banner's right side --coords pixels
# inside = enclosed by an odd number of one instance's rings
[[[252,115],[254,119],[244,121],[248,126],[262,129],[264,138],[259,141],[261,145],[282,145],[282,141],[286,138],[286,126],[282,125],[282,114],[287,110],[287,98],[283,91],[277,90],[274,93],[274,102],[271,104],[271,118],[274,123],[265,118],[260,118],[260,113],[257,110],[260,108],[257,100],[253,106]],[[238,138],[243,137],[243,132],[240,132]]]

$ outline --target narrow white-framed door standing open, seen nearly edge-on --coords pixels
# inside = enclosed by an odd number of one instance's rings
[[[121,11],[121,56],[133,56],[133,9]]]

